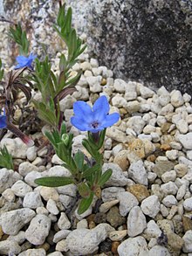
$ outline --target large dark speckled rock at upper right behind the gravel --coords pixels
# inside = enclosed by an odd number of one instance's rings
[[[124,80],[191,92],[190,0],[92,2],[88,42],[99,65]]]

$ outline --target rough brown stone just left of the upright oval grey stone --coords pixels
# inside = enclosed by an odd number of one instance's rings
[[[117,206],[113,206],[106,213],[106,220],[112,225],[114,228],[123,225],[126,223],[126,218],[120,215],[119,208]]]

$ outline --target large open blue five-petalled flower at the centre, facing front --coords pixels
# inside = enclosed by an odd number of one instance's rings
[[[72,125],[81,131],[97,133],[104,128],[112,126],[119,121],[120,114],[109,113],[109,103],[106,96],[99,97],[90,107],[84,101],[76,101],[73,104],[74,116],[71,118]]]

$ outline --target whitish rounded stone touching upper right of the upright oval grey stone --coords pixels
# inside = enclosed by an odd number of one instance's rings
[[[141,202],[141,210],[151,218],[154,218],[160,211],[160,201],[155,195],[145,198]]]

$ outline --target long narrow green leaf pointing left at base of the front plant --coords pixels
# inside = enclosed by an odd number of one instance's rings
[[[74,183],[71,177],[65,176],[46,176],[35,179],[35,183],[46,187],[60,187]]]

